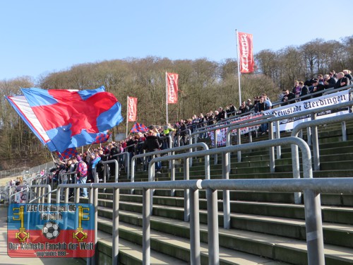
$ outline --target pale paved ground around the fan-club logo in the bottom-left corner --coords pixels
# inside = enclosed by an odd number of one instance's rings
[[[86,264],[83,259],[63,258],[11,258],[7,255],[7,207],[0,205],[0,264],[20,265],[81,265]]]

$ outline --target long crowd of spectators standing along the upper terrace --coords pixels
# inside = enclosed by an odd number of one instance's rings
[[[328,88],[341,88],[348,86],[353,83],[352,75],[349,70],[344,70],[340,73],[335,73],[331,71],[328,74],[319,74],[316,78],[312,78],[308,81],[294,81],[294,87],[292,90],[286,89],[282,91],[279,99],[282,101],[282,105],[287,105],[292,102],[296,102],[296,98],[301,98],[308,96],[311,93],[316,93],[323,91]],[[315,96],[320,96],[321,93]],[[164,150],[170,148],[169,141],[166,136],[172,136],[173,146],[183,146],[188,142],[189,130],[191,133],[196,130],[196,128],[203,128],[205,126],[210,126],[213,124],[220,123],[229,117],[237,117],[240,114],[246,114],[247,112],[263,112],[265,110],[270,110],[273,103],[268,98],[265,93],[258,95],[251,99],[241,102],[241,105],[237,109],[232,103],[227,105],[227,107],[218,107],[217,110],[210,110],[205,115],[200,113],[199,115],[194,114],[190,119],[180,119],[174,124],[167,124],[165,126],[150,126],[147,132],[138,132],[134,135],[128,135],[128,137],[119,142],[111,142],[100,148],[95,148],[92,151],[88,150],[85,153],[76,155],[68,160],[61,161],[57,163],[57,167],[53,170],[54,175],[59,179],[60,172],[71,173],[68,177],[63,177],[61,182],[74,183],[75,177],[76,182],[86,183],[95,182],[95,177],[93,177],[94,172],[97,172],[98,179],[102,180],[104,165],[102,161],[114,160],[116,159],[119,163],[119,170],[124,170],[125,159],[124,155],[119,155],[121,153],[129,153],[130,158],[133,155],[138,155],[144,151],[153,152],[158,150]],[[261,124],[259,129],[262,134],[268,131],[268,124]],[[208,137],[208,134],[200,134],[201,139]],[[179,141],[179,143],[177,143]],[[137,159],[137,163],[144,164],[144,170],[146,170],[147,163],[150,158]],[[160,163],[156,164],[157,173],[161,170]],[[115,164],[109,164],[109,173],[111,176],[115,175]],[[71,193],[73,190],[71,190]],[[83,189],[83,197],[87,197],[88,193],[86,189]]]

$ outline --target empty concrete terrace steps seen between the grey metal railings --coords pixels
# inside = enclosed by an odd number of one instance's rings
[[[352,124],[347,124],[352,126]],[[349,141],[340,142],[342,132],[340,127],[321,126],[318,128],[321,154],[321,170],[313,172],[314,177],[352,177],[353,176],[353,129],[349,129]],[[352,126],[353,127],[353,126]],[[281,134],[284,137],[286,134]],[[287,136],[289,136],[287,134]],[[260,136],[253,141],[267,139],[268,136]],[[305,131],[304,131],[304,139]],[[246,137],[242,137],[245,143]],[[268,167],[268,149],[243,151],[242,162],[237,163],[237,153],[232,154],[231,178],[253,179],[253,178],[284,178],[292,177],[292,158],[289,146],[282,146],[282,158],[275,161],[276,172],[270,173]],[[213,165],[213,155],[210,156],[211,179],[222,178],[222,166]],[[220,162],[220,155],[218,156]],[[340,162],[340,163],[337,163]],[[177,165],[176,179],[182,179],[182,161]],[[301,163],[301,159],[300,159]],[[168,163],[163,163],[162,174],[155,175],[155,180],[169,180],[170,173]],[[137,166],[140,170],[140,165]],[[269,167],[268,167],[269,168]],[[136,172],[136,181],[147,180],[147,172]],[[193,160],[190,168],[191,179],[204,179],[203,158]],[[301,173],[302,174],[302,173]],[[119,181],[128,181],[124,175]],[[121,223],[138,225],[142,222],[140,190],[135,194],[128,194],[128,190],[120,192],[119,217]],[[200,191],[200,220],[203,227],[201,240],[207,242],[207,213],[205,192]],[[222,192],[217,193],[219,208],[219,225],[222,226]],[[99,215],[108,218],[107,225],[99,227],[108,229],[109,214],[112,211],[112,195],[99,194]],[[170,233],[179,233],[180,237],[188,241],[189,224],[184,223],[184,191],[177,190],[177,197],[170,197],[170,190],[155,190],[153,196],[153,216],[151,228],[164,232],[163,237],[169,237]],[[220,235],[220,244],[237,251],[251,252],[270,259],[289,262],[291,264],[306,264],[306,242],[304,226],[304,206],[292,204],[293,194],[273,192],[230,192],[231,196],[231,230],[226,230],[225,235]],[[346,194],[321,194],[323,232],[325,237],[326,264],[353,264],[352,258],[352,228],[353,228],[353,196]],[[165,219],[163,223],[161,220]],[[101,217],[100,217],[101,220]],[[181,223],[180,226],[177,224]],[[125,225],[125,224],[124,224]],[[140,232],[140,228],[132,226]],[[111,228],[110,228],[111,230]],[[221,229],[222,230],[222,229]],[[155,232],[155,231],[153,231]],[[167,233],[167,234],[165,234]],[[136,234],[123,232],[123,237],[133,237],[138,241]],[[277,241],[276,241],[277,240]],[[136,241],[136,242],[137,242]],[[155,242],[160,251],[164,251],[160,243]],[[179,245],[182,243],[177,243]],[[174,247],[174,249],[176,249]],[[161,250],[162,249],[162,250]],[[179,250],[177,250],[179,252]],[[181,250],[182,251],[182,250]],[[189,257],[189,254],[185,254]],[[207,263],[207,262],[206,262]],[[230,263],[232,264],[232,263]],[[247,263],[246,263],[247,264]]]

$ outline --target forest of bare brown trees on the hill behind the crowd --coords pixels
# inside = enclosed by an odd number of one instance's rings
[[[342,40],[312,40],[299,47],[255,54],[256,72],[241,75],[241,98],[267,93],[273,101],[283,88],[292,89],[294,80],[305,81],[318,73],[353,68],[353,35]],[[164,124],[165,72],[179,73],[179,102],[169,105],[169,122],[206,113],[229,103],[239,106],[237,60],[175,60],[146,57],[128,58],[71,66],[66,71],[48,73],[37,80],[18,77],[0,81],[0,170],[19,161],[49,159],[50,154],[21,121],[4,95],[18,95],[20,88],[92,89],[105,86],[121,102],[126,113],[126,97],[138,98],[138,122]],[[132,124],[131,124],[132,126]],[[124,132],[123,122],[115,132]]]

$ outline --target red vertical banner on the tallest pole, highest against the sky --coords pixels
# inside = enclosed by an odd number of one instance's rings
[[[255,64],[253,60],[253,35],[238,33],[240,72],[251,73]]]

